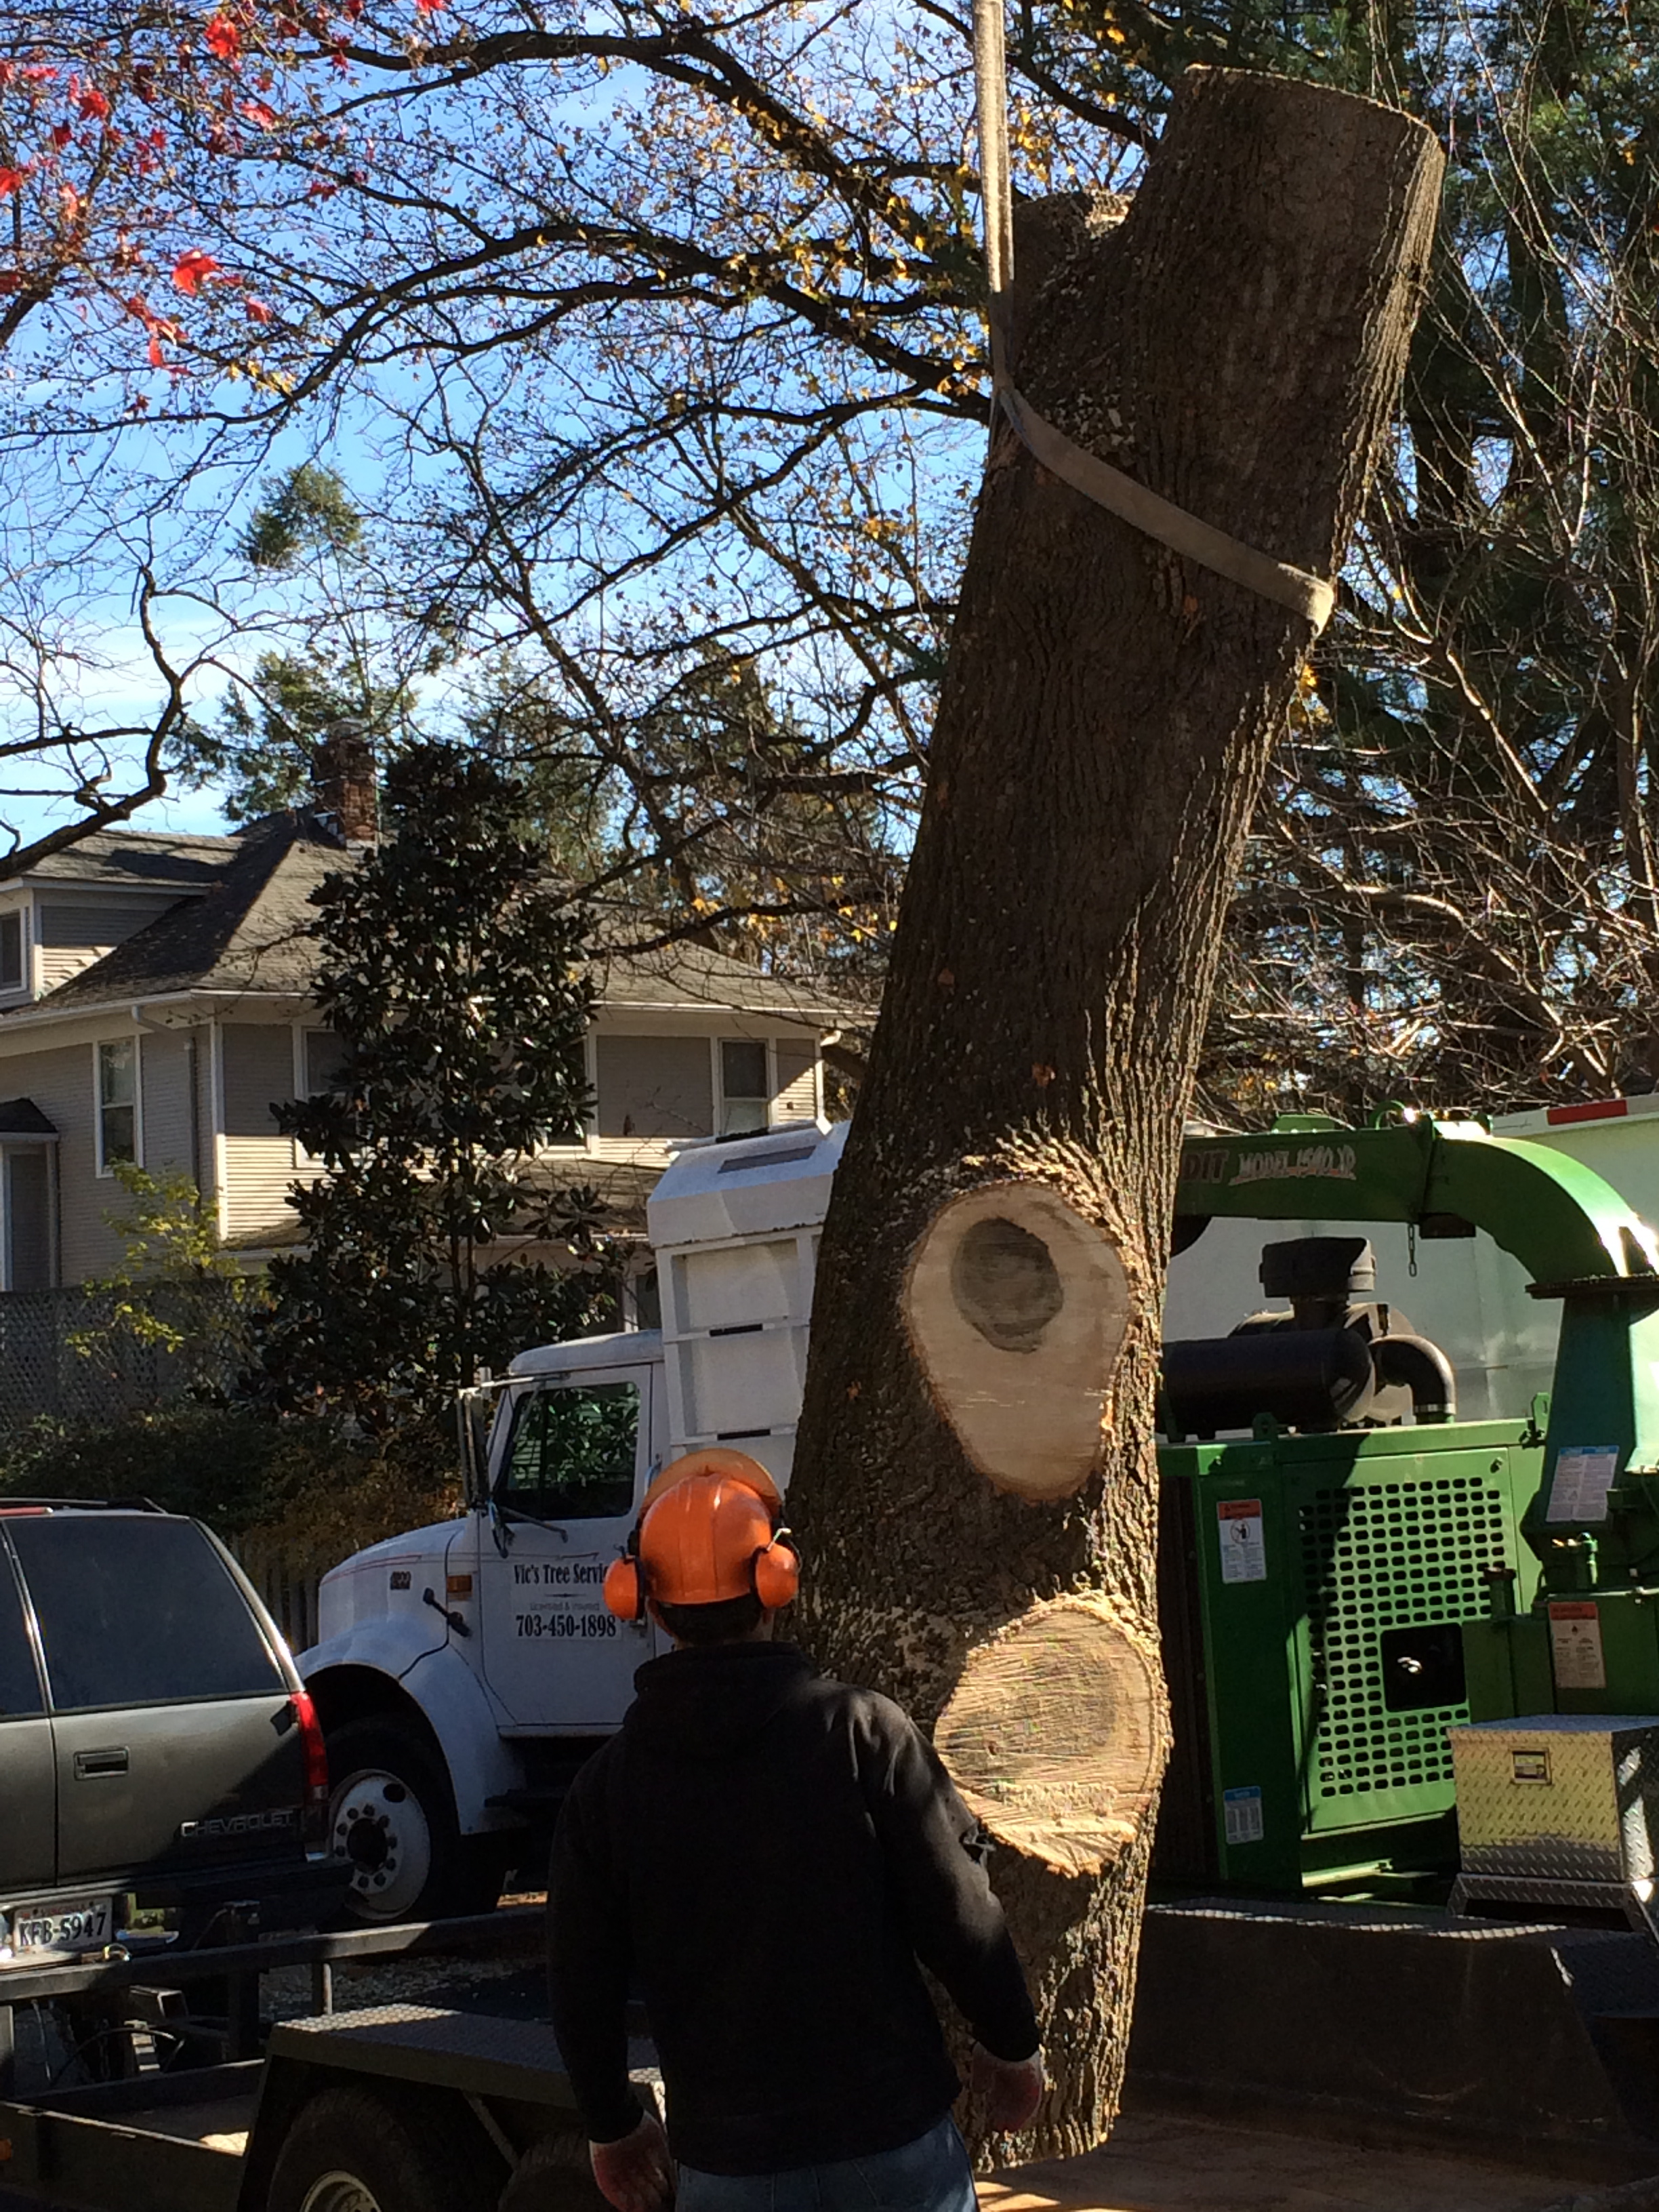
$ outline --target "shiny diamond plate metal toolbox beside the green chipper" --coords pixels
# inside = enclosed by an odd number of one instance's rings
[[[1644,1882],[1659,1856],[1659,1714],[1544,1712],[1447,1730],[1462,1871]]]

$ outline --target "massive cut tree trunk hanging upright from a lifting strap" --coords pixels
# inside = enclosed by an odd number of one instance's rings
[[[1079,226],[1020,305],[1026,400],[1332,575],[1438,179],[1405,115],[1192,71],[1128,219]],[[1055,2077],[1024,2157],[1099,2141],[1117,2108],[1166,1752],[1152,1394],[1179,1130],[1307,644],[998,431],[790,1513],[814,1652],[936,1728],[1000,1843]]]

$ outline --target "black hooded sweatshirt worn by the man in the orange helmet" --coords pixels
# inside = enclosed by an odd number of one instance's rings
[[[973,1820],[911,1721],[792,1644],[635,1674],[549,1878],[553,2026],[593,2141],[637,2117],[637,1980],[675,2157],[765,2174],[874,2157],[958,2093],[918,1960],[998,2057],[1037,2048]]]

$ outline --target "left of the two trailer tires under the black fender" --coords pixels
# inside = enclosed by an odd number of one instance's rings
[[[325,2088],[299,2108],[265,2203],[268,2212],[491,2212],[484,2166],[436,2115]]]

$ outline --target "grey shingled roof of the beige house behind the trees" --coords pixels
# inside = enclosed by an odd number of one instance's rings
[[[146,852],[135,854],[131,869],[122,874],[128,856],[104,847],[126,843],[142,843]],[[80,880],[166,880],[142,874],[166,858],[157,854],[159,843],[137,832],[88,838],[86,845],[100,849],[86,856],[93,876]],[[276,998],[310,993],[316,973],[312,891],[323,876],[349,865],[330,830],[314,814],[290,812],[270,814],[239,836],[170,843],[179,867],[188,872],[175,878],[184,896],[44,1000],[0,1015],[0,1033],[49,1013],[192,991]],[[55,854],[53,863],[71,860],[80,849]],[[53,863],[42,863],[42,869]],[[599,911],[595,936],[595,980],[606,1006],[730,1006],[814,1029],[854,1015],[852,1006],[836,1004],[823,991],[763,975],[706,945],[641,940],[639,927],[619,914]]]

